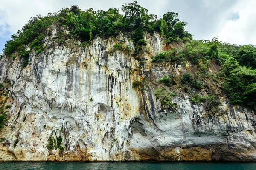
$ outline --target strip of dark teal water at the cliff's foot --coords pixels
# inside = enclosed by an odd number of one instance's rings
[[[81,163],[81,162],[8,162],[0,170],[256,170],[256,163]]]

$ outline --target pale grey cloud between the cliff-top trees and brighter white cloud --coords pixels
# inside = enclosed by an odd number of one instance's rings
[[[188,23],[186,29],[195,39],[211,39],[232,13],[238,0],[179,0],[168,3],[164,11],[177,11],[179,18]]]

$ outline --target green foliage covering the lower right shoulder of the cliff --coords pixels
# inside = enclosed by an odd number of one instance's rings
[[[177,59],[175,59],[177,57]],[[202,78],[209,77],[211,61],[221,65],[219,77],[214,77],[222,82],[222,89],[227,93],[231,104],[255,106],[256,99],[256,46],[232,45],[222,43],[213,38],[209,40],[189,40],[181,50],[175,48],[163,51],[152,59],[152,62],[184,62],[189,60],[198,68],[198,77],[186,73],[181,77],[181,82],[187,89],[204,88]],[[218,79],[217,79],[218,78]]]

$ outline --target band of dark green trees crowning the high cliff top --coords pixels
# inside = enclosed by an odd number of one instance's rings
[[[3,52],[14,59],[17,56],[24,57],[26,66],[30,51],[35,49],[36,53],[40,53],[44,48],[44,37],[49,34],[52,25],[58,31],[58,45],[64,45],[65,40],[72,37],[80,39],[82,45],[87,45],[96,35],[112,37],[122,32],[133,40],[134,54],[138,54],[142,46],[146,45],[145,31],[151,34],[159,31],[167,38],[192,39],[191,34],[184,30],[186,23],[177,18],[177,13],[168,12],[163,19],[158,20],[157,16],[148,14],[148,10],[138,5],[137,1],[123,5],[122,11],[124,15],[119,14],[116,8],[81,11],[78,6],[71,6],[57,13],[49,13],[46,17],[38,15],[31,18],[21,31],[12,35],[12,40],[6,43]]]

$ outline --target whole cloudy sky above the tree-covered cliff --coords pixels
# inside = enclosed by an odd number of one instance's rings
[[[178,12],[194,39],[256,45],[256,0],[137,0],[150,14]],[[37,14],[78,5],[82,10],[119,8],[131,0],[0,0],[0,53],[11,34]]]

